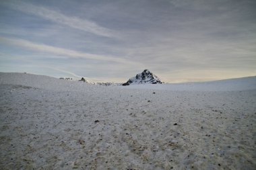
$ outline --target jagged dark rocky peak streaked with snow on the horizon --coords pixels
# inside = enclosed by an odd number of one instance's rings
[[[162,84],[162,81],[148,69],[142,73],[137,74],[135,77],[129,79],[123,85],[137,85],[137,84]]]

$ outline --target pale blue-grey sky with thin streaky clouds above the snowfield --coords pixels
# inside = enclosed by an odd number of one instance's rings
[[[0,1],[0,72],[168,83],[256,75],[255,0]]]

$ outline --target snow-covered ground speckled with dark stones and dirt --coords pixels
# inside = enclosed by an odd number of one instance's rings
[[[256,169],[255,83],[0,73],[0,169]]]

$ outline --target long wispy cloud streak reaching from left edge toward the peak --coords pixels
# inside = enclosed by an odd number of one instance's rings
[[[112,62],[119,62],[125,64],[136,64],[135,62],[126,60],[124,58],[115,58],[114,56],[102,56],[97,54],[89,54],[86,52],[78,52],[75,50],[68,50],[65,48],[58,48],[55,46],[49,46],[45,44],[37,44],[35,42],[30,42],[28,40],[23,40],[20,38],[6,38],[0,36],[0,42],[5,44],[11,44],[14,46],[22,46],[28,48],[30,50],[39,50],[42,52],[51,52],[57,55],[68,56],[69,58],[87,58],[91,60],[102,60],[102,61],[112,61]]]

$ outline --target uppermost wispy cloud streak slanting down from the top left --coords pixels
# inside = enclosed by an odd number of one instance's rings
[[[84,18],[81,19],[79,17],[67,16],[67,15],[64,15],[63,13],[59,13],[57,11],[47,9],[46,7],[36,6],[36,5],[32,5],[31,3],[25,3],[22,1],[10,1],[6,3],[6,5],[8,7],[11,7],[12,9],[22,11],[24,13],[36,15],[38,17],[42,17],[44,19],[50,20],[51,22],[63,24],[65,26],[69,26],[71,28],[75,28],[85,32],[90,32],[98,36],[105,36],[105,37],[112,37],[112,38],[117,37],[116,34],[113,34],[112,30],[99,26],[98,24],[96,24],[96,22],[92,22],[88,19],[84,19]]]

